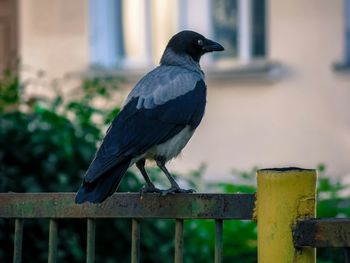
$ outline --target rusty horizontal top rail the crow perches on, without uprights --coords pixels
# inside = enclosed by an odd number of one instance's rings
[[[75,193],[1,193],[0,218],[178,218],[251,220],[254,194],[116,193],[102,204]]]

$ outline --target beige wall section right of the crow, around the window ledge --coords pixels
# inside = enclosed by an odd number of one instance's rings
[[[343,54],[342,4],[270,0],[270,58],[288,75],[270,85],[210,83],[203,125],[174,169],[206,161],[208,174],[227,175],[323,162],[350,175],[350,75],[332,69]]]

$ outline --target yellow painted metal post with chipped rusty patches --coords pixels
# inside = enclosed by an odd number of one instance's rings
[[[316,250],[293,246],[297,219],[316,216],[315,170],[262,169],[257,172],[258,262],[315,263]]]

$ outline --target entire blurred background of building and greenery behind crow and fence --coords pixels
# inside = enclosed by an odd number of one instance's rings
[[[256,167],[318,168],[318,215],[349,216],[350,0],[0,0],[0,190],[75,191],[130,89],[184,29],[225,51],[201,61],[206,115],[171,171],[199,191],[254,192]],[[162,184],[159,171],[151,172]],[[121,190],[141,184],[131,170]],[[125,224],[113,229],[128,240]],[[144,262],[167,262],[152,257],[157,246],[171,259],[172,232],[164,230],[171,224],[146,227]],[[69,227],[60,257],[79,262],[84,240]],[[200,235],[188,234],[194,256],[186,262],[211,262],[212,227],[187,226]],[[33,229],[45,239],[45,227]],[[237,248],[225,254],[227,262],[255,262],[254,225],[231,222],[227,229],[225,242]],[[0,247],[11,251],[3,232]],[[36,241],[36,262],[44,261],[47,244],[38,236],[25,237],[28,246]],[[100,262],[129,249],[104,242],[100,251],[109,252],[97,256]],[[342,262],[341,253],[324,251],[319,262]],[[118,262],[127,262],[123,255]],[[1,262],[8,256],[0,251]]]

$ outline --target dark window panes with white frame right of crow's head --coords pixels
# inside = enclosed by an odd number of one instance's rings
[[[244,63],[265,56],[264,0],[215,0],[212,16],[214,38],[227,50],[216,57]]]

